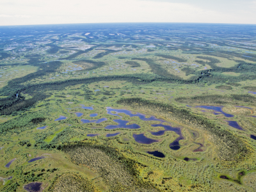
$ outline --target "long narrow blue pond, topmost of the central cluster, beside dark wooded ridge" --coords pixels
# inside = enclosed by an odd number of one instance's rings
[[[118,113],[124,113],[125,115],[129,115],[129,116],[138,116],[141,120],[143,121],[159,121],[159,122],[164,122],[164,120],[158,119],[155,116],[150,116],[149,118],[146,118],[144,114],[142,113],[136,113],[136,114],[132,114],[131,111],[126,110],[126,109],[112,109],[112,108],[107,108],[108,114],[109,115],[114,115],[114,116],[120,116],[118,115]],[[115,111],[116,114],[111,113],[112,111]],[[121,116],[120,116],[121,117]]]

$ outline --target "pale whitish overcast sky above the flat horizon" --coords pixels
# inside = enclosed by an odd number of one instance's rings
[[[0,0],[0,26],[104,22],[256,24],[256,0]]]

